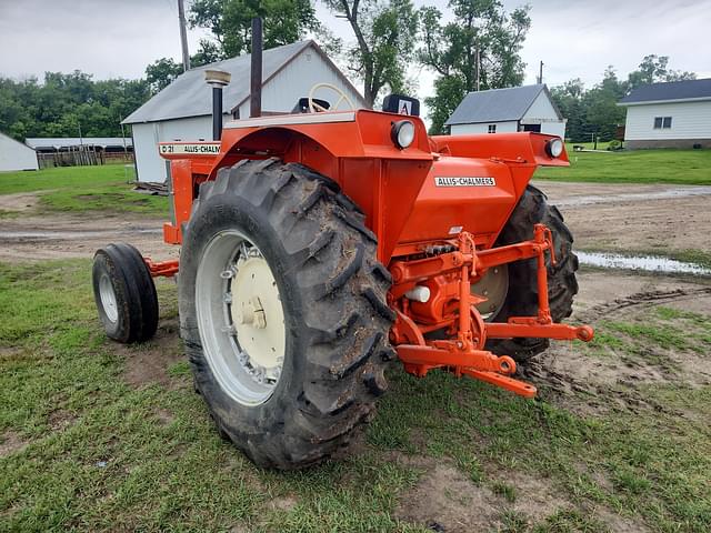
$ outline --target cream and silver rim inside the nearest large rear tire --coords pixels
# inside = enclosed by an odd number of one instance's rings
[[[218,233],[206,247],[196,311],[202,350],[220,388],[244,405],[269,400],[283,369],[283,306],[267,260],[237,230]]]

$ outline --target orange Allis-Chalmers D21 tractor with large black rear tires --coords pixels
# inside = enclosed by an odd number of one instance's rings
[[[593,334],[558,323],[578,261],[529,184],[537,167],[568,164],[559,138],[428,137],[397,112],[418,102],[398,95],[382,112],[327,105],[228,122],[217,143],[159,144],[180,261],[119,243],[93,265],[106,331],[127,343],[156,332],[152,278],[177,276],[196,390],[221,434],[278,469],[346,446],[393,359],[531,398],[517,362]]]

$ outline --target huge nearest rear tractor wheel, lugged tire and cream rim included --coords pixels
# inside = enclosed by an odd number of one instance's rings
[[[389,285],[374,235],[331,180],[270,159],[203,183],[180,324],[220,432],[262,466],[341,451],[385,390]]]

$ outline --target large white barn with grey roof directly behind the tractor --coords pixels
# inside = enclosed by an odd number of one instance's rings
[[[249,117],[250,61],[250,54],[246,54],[191,69],[123,120],[133,129],[140,181],[166,180],[167,165],[158,155],[158,142],[212,139],[212,93],[204,81],[206,69],[232,74],[223,91],[223,122],[233,115]],[[291,112],[298,100],[308,97],[311,87],[320,82],[341,89],[356,107],[365,107],[358,90],[313,41],[264,50],[262,80],[264,112]],[[333,100],[328,90],[320,89],[316,95]]]

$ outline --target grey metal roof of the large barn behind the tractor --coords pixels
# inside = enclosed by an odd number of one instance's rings
[[[262,83],[266,84],[307,48],[316,50],[316,52],[334,69],[338,76],[342,78],[343,82],[352,88],[351,82],[331,62],[319,46],[311,40],[264,50],[262,56]],[[129,114],[123,120],[123,123],[158,122],[161,120],[212,114],[212,99],[210,98],[210,91],[203,74],[203,71],[207,69],[220,69],[232,74],[232,80],[230,84],[224,88],[222,97],[222,111],[230,113],[249,98],[250,63],[251,54],[247,53],[244,56],[238,56],[237,58],[190,69]],[[353,91],[360,94],[356,88],[353,88]]]

